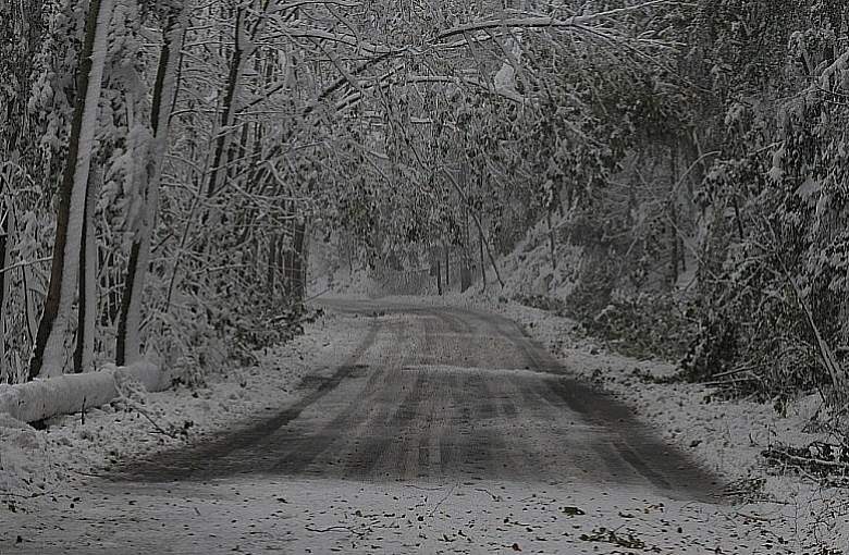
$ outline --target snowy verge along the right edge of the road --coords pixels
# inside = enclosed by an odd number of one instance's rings
[[[803,432],[822,406],[819,395],[789,403],[783,417],[771,405],[717,399],[716,391],[703,385],[647,382],[637,374],[669,375],[675,367],[610,353],[577,333],[573,320],[544,310],[472,292],[417,301],[485,309],[515,320],[571,372],[614,393],[666,441],[727,477],[730,492],[739,493],[737,514],[749,517],[766,535],[784,530],[776,536],[787,542],[788,553],[849,553],[849,490],[821,488],[805,477],[775,472],[761,456],[772,445],[834,441]]]

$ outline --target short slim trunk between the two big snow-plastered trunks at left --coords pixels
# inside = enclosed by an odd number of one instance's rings
[[[83,240],[79,249],[79,308],[76,324],[74,372],[93,370],[95,362],[95,320],[97,318],[97,242],[95,207],[100,192],[101,171],[91,172],[83,212]]]

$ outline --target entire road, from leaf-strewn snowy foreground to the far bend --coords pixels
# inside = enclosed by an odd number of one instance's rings
[[[779,552],[509,320],[325,305],[369,332],[299,399],[91,480],[0,553]]]

